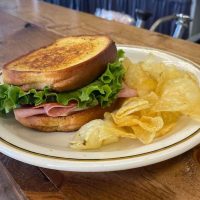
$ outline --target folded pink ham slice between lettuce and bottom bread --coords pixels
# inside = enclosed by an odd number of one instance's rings
[[[14,110],[16,117],[25,118],[34,115],[46,114],[50,117],[68,116],[73,112],[79,111],[76,103],[70,103],[67,106],[63,106],[58,103],[45,103],[39,106],[18,108]]]

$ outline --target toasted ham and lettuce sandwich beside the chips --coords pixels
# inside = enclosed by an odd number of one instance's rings
[[[74,131],[118,104],[124,68],[107,36],[72,36],[6,64],[0,113],[44,132]],[[125,95],[124,95],[125,94]]]

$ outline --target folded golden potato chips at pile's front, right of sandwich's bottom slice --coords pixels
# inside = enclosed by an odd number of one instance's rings
[[[152,142],[156,137],[156,132],[164,125],[162,117],[149,110],[157,100],[158,97],[153,92],[144,98],[129,98],[118,111],[111,114],[114,123],[121,128],[130,127],[134,136],[144,144]],[[129,137],[129,135],[124,135],[124,137]]]

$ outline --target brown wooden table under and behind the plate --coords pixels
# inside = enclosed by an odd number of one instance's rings
[[[1,0],[0,66],[64,35],[97,33],[108,34],[117,43],[174,52],[200,64],[197,44],[36,0]],[[109,173],[42,169],[3,154],[0,161],[0,199],[200,199],[200,146],[165,162]]]

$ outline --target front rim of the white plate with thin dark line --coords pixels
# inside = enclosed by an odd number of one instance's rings
[[[73,172],[105,172],[127,170],[155,164],[178,156],[198,144],[200,144],[200,130],[171,146],[146,153],[145,155],[135,155],[128,158],[112,158],[106,160],[56,158],[29,152],[4,141],[2,138],[0,138],[0,151],[11,158],[38,167]],[[14,151],[11,149],[14,149]]]

